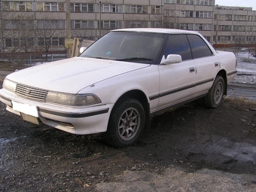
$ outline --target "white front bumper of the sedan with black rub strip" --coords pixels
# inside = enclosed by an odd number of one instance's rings
[[[39,119],[48,126],[79,135],[105,132],[113,107],[111,104],[79,108],[55,105],[25,99],[5,89],[0,90],[0,101],[7,105],[8,111],[21,115],[24,120],[36,123],[36,119]],[[19,103],[21,108],[24,106],[24,110],[14,110],[13,103]],[[28,105],[37,108],[38,114],[26,113]]]

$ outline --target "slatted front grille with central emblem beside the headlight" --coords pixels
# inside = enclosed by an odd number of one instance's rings
[[[20,96],[26,97],[27,99],[34,99],[44,102],[47,97],[48,91],[26,86],[23,84],[17,84],[15,93]]]

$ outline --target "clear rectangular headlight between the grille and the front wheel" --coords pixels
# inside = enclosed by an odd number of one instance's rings
[[[49,92],[47,94],[46,102],[54,102],[62,105],[84,106],[100,103],[101,100],[98,96],[93,94],[75,95],[68,93]]]

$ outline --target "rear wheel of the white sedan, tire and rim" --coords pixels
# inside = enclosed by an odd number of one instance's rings
[[[204,97],[204,105],[208,108],[216,108],[221,105],[224,89],[224,79],[221,76],[217,76],[209,93]]]

